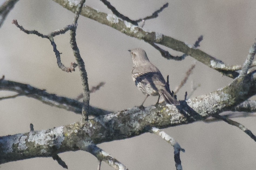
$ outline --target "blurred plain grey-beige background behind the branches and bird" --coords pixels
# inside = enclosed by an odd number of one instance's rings
[[[2,4],[4,1],[0,0]],[[177,40],[193,44],[200,35],[204,40],[200,49],[228,65],[241,65],[256,38],[256,1],[254,0],[110,0],[120,13],[131,19],[151,15],[164,3],[156,19],[147,20],[144,29],[162,33]],[[101,12],[112,13],[100,1],[87,0],[86,5]],[[0,29],[0,76],[6,80],[27,83],[65,97],[76,98],[82,93],[79,71],[66,73],[56,63],[49,40],[21,32],[13,19],[28,30],[48,34],[73,22],[74,14],[57,3],[22,0],[16,3]],[[183,61],[164,59],[144,41],[128,37],[111,27],[85,17],[78,20],[77,42],[88,74],[89,86],[106,82],[91,94],[90,104],[114,111],[140,105],[144,95],[137,90],[131,77],[132,60],[128,49],[143,48],[152,63],[170,76],[171,90],[184,78],[188,68],[196,61],[188,56]],[[62,52],[62,63],[74,62],[69,44],[69,33],[55,37]],[[167,48],[164,48],[167,49]],[[168,49],[173,55],[180,55]],[[193,82],[193,83],[192,83]],[[192,95],[210,93],[232,82],[200,62],[179,91],[177,98],[184,99],[185,91],[201,84]],[[0,96],[15,93],[0,91]],[[155,104],[157,97],[149,97],[145,106]],[[256,118],[233,119],[256,133]],[[80,121],[80,115],[64,109],[50,107],[32,98],[17,97],[0,101],[0,136],[49,129]],[[183,169],[255,169],[256,143],[237,127],[225,122],[196,122],[164,129],[186,150],[181,153]],[[129,169],[175,169],[173,147],[159,136],[146,133],[126,140],[98,145]],[[97,169],[97,159],[83,151],[59,154],[69,169]],[[52,158],[33,158],[1,165],[9,169],[63,169]],[[102,169],[112,169],[105,162]]]

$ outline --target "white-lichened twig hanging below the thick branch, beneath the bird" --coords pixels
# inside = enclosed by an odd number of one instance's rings
[[[180,160],[180,151],[185,152],[183,148],[180,147],[180,145],[167,133],[164,131],[153,127],[150,131],[151,133],[157,134],[158,136],[162,137],[162,139],[166,140],[168,143],[171,144],[174,148],[174,161],[175,161],[175,166],[177,170],[182,170],[181,166],[181,160]]]

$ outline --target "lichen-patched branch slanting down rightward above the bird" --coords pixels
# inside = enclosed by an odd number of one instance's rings
[[[53,1],[72,12],[75,12],[76,10],[76,3],[69,2],[68,0]],[[199,49],[191,48],[190,45],[185,42],[176,40],[160,33],[143,30],[142,28],[137,27],[132,23],[119,19],[116,15],[99,12],[89,6],[84,6],[82,8],[81,15],[93,19],[101,24],[110,26],[120,31],[121,33],[126,34],[127,36],[134,37],[139,40],[144,40],[148,43],[157,43],[160,45],[164,45],[165,47],[171,48],[175,51],[183,52],[185,55],[190,55],[194,59],[205,64],[206,66],[213,68],[214,70],[217,70],[218,72],[230,78],[234,79],[240,73],[240,71],[233,69],[232,66],[227,66],[221,60],[218,60]],[[236,68],[237,66],[234,67]]]

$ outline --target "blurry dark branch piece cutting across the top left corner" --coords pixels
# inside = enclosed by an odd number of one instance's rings
[[[8,13],[12,10],[15,3],[18,1],[19,0],[7,0],[0,6],[0,28],[3,25]]]

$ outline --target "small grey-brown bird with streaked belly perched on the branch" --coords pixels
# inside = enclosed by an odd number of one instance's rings
[[[173,96],[163,75],[159,69],[154,66],[148,59],[146,52],[141,48],[134,48],[128,50],[132,56],[133,68],[132,78],[137,88],[146,95],[145,100],[142,102],[140,107],[143,107],[144,102],[149,96],[159,96],[157,103],[159,102],[160,96],[164,98],[164,101],[168,104],[179,105]]]

